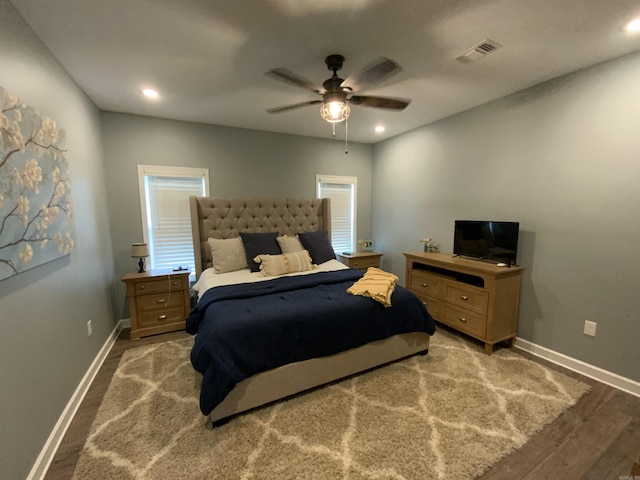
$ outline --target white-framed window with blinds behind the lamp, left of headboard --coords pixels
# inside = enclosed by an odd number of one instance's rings
[[[189,196],[209,196],[209,170],[138,165],[138,182],[150,268],[186,267],[195,278]]]

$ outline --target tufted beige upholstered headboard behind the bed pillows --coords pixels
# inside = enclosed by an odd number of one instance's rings
[[[331,237],[328,198],[189,197],[196,278],[211,267],[209,237],[233,238],[240,232],[295,235],[325,230]]]

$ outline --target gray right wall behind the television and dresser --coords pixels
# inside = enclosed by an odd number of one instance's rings
[[[456,219],[519,221],[518,335],[640,381],[638,85],[635,54],[377,144],[386,267],[427,236],[450,252]]]

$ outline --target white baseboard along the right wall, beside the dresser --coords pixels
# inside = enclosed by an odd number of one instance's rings
[[[519,348],[520,350],[529,352],[532,355],[544,358],[545,360],[548,360],[552,363],[580,373],[585,377],[593,378],[594,380],[605,383],[624,392],[630,393],[631,395],[640,397],[640,382],[636,382],[635,380],[631,380],[630,378],[625,378],[616,373],[612,373],[607,370],[603,370],[602,368],[582,362],[580,360],[576,360],[575,358],[568,357],[567,355],[550,350],[546,347],[542,347],[528,340],[523,340],[520,337],[516,337],[514,346],[516,348]]]

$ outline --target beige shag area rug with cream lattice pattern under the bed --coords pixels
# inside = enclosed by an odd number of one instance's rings
[[[239,416],[198,409],[192,339],[125,352],[74,479],[468,479],[588,386],[441,330],[427,356]]]

